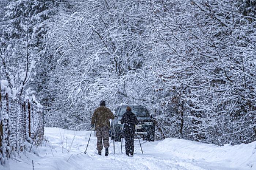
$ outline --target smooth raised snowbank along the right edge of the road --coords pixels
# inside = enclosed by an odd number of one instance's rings
[[[216,162],[226,167],[256,169],[256,141],[249,144],[216,146],[184,139],[167,138],[155,147],[159,151],[197,161]]]

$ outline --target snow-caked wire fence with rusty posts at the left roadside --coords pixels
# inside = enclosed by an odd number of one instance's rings
[[[11,97],[0,85],[0,162],[19,154],[25,143],[41,144],[44,114],[33,98]]]

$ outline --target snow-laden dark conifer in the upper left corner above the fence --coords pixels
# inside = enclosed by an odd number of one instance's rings
[[[36,62],[44,54],[44,21],[52,13],[52,6],[52,1],[17,0],[6,7],[1,26],[1,78],[20,94],[33,81]]]

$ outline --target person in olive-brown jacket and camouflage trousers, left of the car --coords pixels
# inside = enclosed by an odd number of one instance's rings
[[[91,118],[91,127],[96,130],[97,137],[97,150],[98,154],[101,155],[102,139],[103,145],[105,147],[105,156],[108,156],[108,148],[109,148],[109,119],[114,119],[113,113],[109,108],[106,107],[105,101],[100,101],[100,107],[95,109],[93,113],[93,117]]]

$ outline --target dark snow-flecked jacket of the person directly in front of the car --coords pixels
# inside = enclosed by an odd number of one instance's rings
[[[135,124],[139,121],[137,117],[131,111],[126,111],[121,119],[121,124],[124,124],[124,133],[134,134]]]

